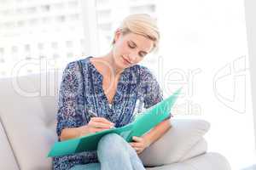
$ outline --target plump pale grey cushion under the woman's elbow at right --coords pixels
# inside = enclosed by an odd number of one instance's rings
[[[207,151],[206,145],[205,147],[196,145],[207,133],[210,127],[208,122],[193,119],[174,119],[170,121],[172,128],[139,155],[145,166],[171,164]],[[195,146],[201,148],[194,148]]]

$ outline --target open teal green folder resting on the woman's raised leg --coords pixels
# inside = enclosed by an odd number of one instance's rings
[[[180,91],[181,88],[167,99],[141,113],[141,116],[137,117],[134,122],[124,127],[112,128],[98,133],[91,133],[77,139],[56,142],[49,151],[48,157],[66,156],[83,151],[96,150],[99,140],[108,133],[118,133],[127,142],[131,142],[133,136],[142,136],[170,116],[172,105],[174,105]]]

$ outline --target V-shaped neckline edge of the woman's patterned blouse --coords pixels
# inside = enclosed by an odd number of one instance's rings
[[[123,81],[123,78],[124,78],[124,75],[125,75],[125,72],[126,72],[127,69],[125,69],[124,71],[121,72],[121,75],[120,75],[120,77],[119,77],[119,81],[118,81],[118,83],[117,83],[116,91],[115,91],[115,93],[113,94],[113,99],[112,99],[111,102],[109,102],[108,97],[107,97],[107,94],[105,93],[104,88],[103,88],[103,76],[102,76],[102,74],[100,73],[100,71],[98,71],[98,70],[96,69],[96,66],[90,61],[91,58],[93,58],[93,57],[89,57],[89,59],[88,59],[89,64],[91,65],[91,68],[96,72],[96,74],[98,74],[98,75],[100,76],[100,79],[101,79],[101,83],[100,83],[100,84],[101,84],[101,85],[100,85],[101,88],[100,88],[100,89],[101,89],[101,91],[102,91],[103,98],[104,98],[105,101],[107,102],[108,107],[109,107],[110,109],[112,109],[112,106],[114,105],[114,101],[115,101],[115,99],[117,98],[117,96],[119,95],[119,89],[120,89],[120,86],[121,86],[121,82]]]

